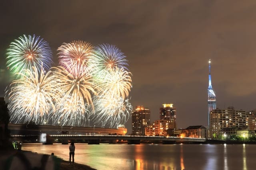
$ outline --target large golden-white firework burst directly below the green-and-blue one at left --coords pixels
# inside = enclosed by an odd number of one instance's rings
[[[24,72],[24,73],[23,73]],[[42,117],[55,112],[54,101],[60,93],[58,83],[53,80],[52,72],[47,73],[32,66],[32,71],[23,71],[21,78],[10,84],[6,95],[9,98],[10,122],[42,123]]]

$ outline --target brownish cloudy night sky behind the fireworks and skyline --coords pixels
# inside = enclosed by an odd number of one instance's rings
[[[255,109],[256,1],[9,1],[0,4],[0,96],[11,82],[6,49],[36,34],[56,49],[83,40],[114,44],[132,72],[132,106],[151,121],[173,103],[177,127],[207,124],[208,59],[217,107]],[[131,118],[126,123],[131,132]]]

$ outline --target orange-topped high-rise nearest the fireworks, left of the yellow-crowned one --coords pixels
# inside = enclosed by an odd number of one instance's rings
[[[150,125],[150,110],[136,106],[132,111],[132,135],[145,135],[145,128]]]

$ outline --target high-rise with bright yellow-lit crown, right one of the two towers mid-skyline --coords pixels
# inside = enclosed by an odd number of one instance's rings
[[[163,107],[160,108],[160,120],[168,120],[169,129],[176,128],[176,108],[173,104],[163,104]]]

